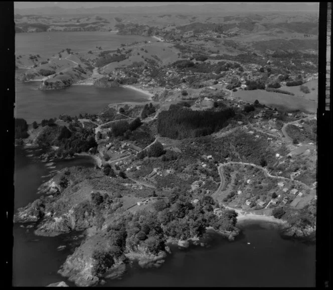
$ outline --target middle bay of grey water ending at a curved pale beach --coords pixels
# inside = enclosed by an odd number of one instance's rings
[[[77,85],[62,90],[41,91],[37,89],[39,85],[38,81],[16,83],[15,114],[26,119],[28,124],[60,114],[97,114],[111,103],[147,101],[145,94],[126,88]]]

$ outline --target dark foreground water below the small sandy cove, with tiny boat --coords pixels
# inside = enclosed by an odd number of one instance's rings
[[[173,248],[158,269],[130,269],[106,286],[309,287],[315,285],[313,245],[284,240],[267,222],[246,221],[235,241],[214,236],[210,248]],[[250,244],[248,244],[250,242]]]

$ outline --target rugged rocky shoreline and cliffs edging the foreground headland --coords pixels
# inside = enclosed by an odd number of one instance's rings
[[[89,170],[92,171],[90,172]],[[93,258],[93,250],[98,248],[107,250],[110,247],[109,237],[106,226],[100,230],[96,229],[97,220],[94,215],[84,212],[84,217],[78,219],[75,213],[77,205],[70,203],[73,192],[66,188],[67,186],[71,187],[72,182],[77,180],[78,176],[73,175],[76,172],[77,168],[65,168],[58,171],[54,177],[39,187],[39,193],[46,195],[44,199],[37,199],[27,206],[20,208],[15,215],[14,221],[16,223],[38,222],[35,234],[42,236],[57,236],[75,230],[85,230],[85,239],[75,249],[74,253],[67,257],[58,271],[59,274],[68,278],[69,281],[74,282],[77,286],[94,286],[105,283],[105,279],[120,278],[133,263],[137,263],[142,268],[158,268],[165,261],[168,254],[172,254],[168,243],[177,245],[181,249],[187,249],[191,245],[209,246],[209,241],[205,238],[207,236],[205,236],[203,238],[193,237],[188,240],[169,239],[164,250],[161,250],[158,254],[152,254],[146,248],[139,246],[134,250],[127,247],[124,254],[117,258],[111,267],[108,267],[102,275],[96,275],[94,272],[96,261]],[[84,179],[87,174],[91,175],[93,172],[94,174],[102,174],[98,173],[100,172],[98,170],[87,169],[82,174],[80,173],[80,179]],[[63,178],[64,176],[65,179]],[[71,176],[72,179],[70,179]],[[63,183],[67,185],[64,186]],[[53,208],[53,205],[60,205],[62,203],[65,209],[62,209],[60,214],[56,214],[50,210]],[[59,210],[61,209],[59,208]],[[277,226],[281,227],[281,234],[287,237],[302,239],[315,237],[315,228],[300,230],[287,223],[277,224]],[[229,241],[234,240],[241,232],[239,228],[226,232],[207,227],[207,235],[209,235],[209,231],[218,233],[228,238]],[[64,286],[60,283],[51,285]]]

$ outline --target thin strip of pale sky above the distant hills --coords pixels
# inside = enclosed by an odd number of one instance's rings
[[[169,4],[203,5],[216,2],[15,2],[16,9],[40,8],[40,7],[61,7],[61,8],[94,8],[94,7],[134,7],[134,6],[162,6]]]

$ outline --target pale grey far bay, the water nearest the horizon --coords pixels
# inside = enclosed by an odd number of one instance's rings
[[[114,32],[40,32],[17,33],[15,35],[15,54],[39,54],[51,57],[69,48],[74,53],[97,50],[96,46],[106,50],[117,49],[121,44],[154,40],[149,37],[117,35]]]

